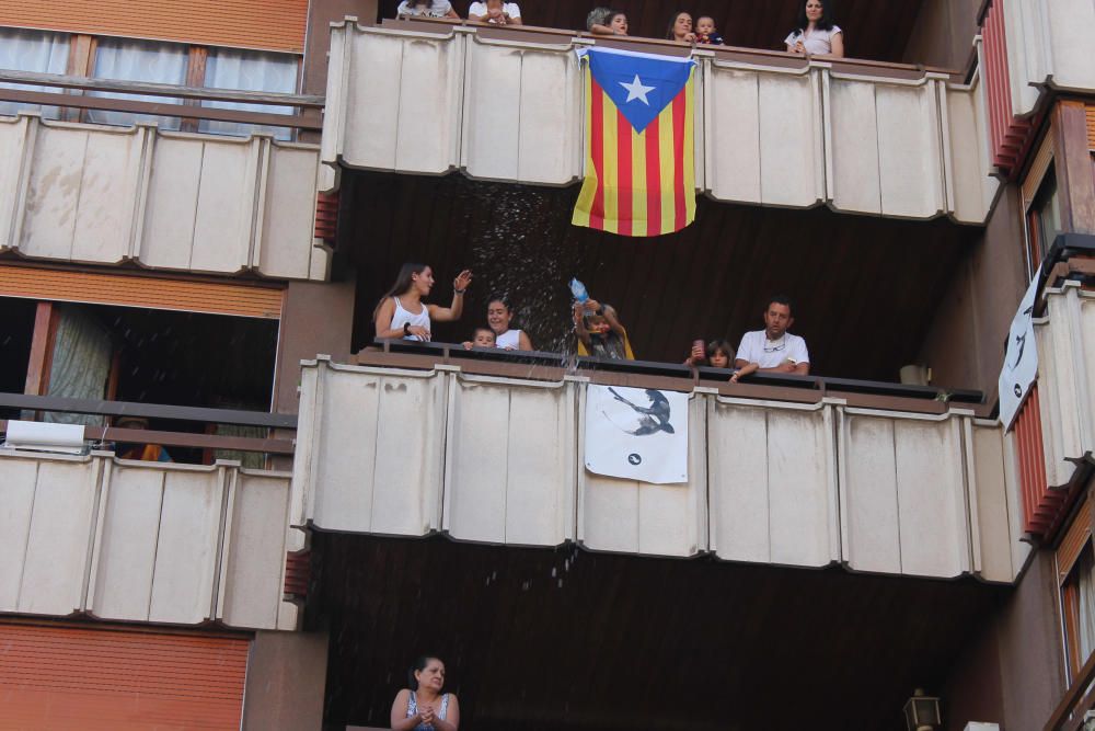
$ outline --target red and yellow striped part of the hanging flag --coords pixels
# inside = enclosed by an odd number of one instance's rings
[[[586,178],[572,222],[620,236],[672,233],[695,220],[695,69],[642,133],[585,65]]]

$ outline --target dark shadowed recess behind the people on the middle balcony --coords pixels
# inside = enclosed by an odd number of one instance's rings
[[[956,267],[981,229],[699,199],[680,233],[627,239],[570,225],[578,186],[533,187],[344,172],[338,247],[358,271],[354,349],[372,339],[372,309],[404,261],[433,265],[431,301],[475,272],[463,319],[434,339],[470,340],[487,298],[505,294],[514,327],[540,350],[573,350],[572,276],[619,310],[636,357],[679,363],[694,339],[763,327],[766,298],[795,302],[793,332],[818,375],[897,380],[915,361]],[[964,387],[968,384],[944,384]]]

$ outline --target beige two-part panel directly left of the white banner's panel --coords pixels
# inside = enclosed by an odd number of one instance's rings
[[[450,384],[445,521],[460,540],[557,546],[573,538],[574,392],[565,384]]]

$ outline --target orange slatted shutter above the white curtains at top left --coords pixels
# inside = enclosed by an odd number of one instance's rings
[[[0,25],[300,54],[308,0],[0,0]]]

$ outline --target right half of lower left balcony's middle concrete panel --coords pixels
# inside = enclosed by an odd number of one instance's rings
[[[224,478],[220,468],[162,469],[149,620],[195,625],[212,614]]]

